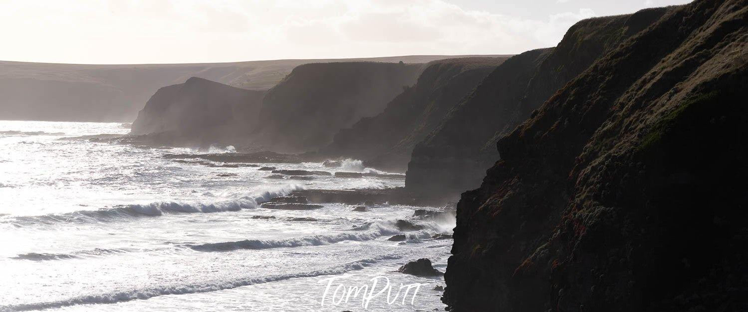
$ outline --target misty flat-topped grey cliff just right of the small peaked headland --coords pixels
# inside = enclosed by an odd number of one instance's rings
[[[296,67],[266,94],[254,138],[273,150],[316,150],[384,110],[423,64],[349,62]]]

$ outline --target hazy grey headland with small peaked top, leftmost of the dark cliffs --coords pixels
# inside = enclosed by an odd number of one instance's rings
[[[156,91],[132,123],[132,134],[169,132],[172,144],[245,136],[257,121],[263,94],[192,77]]]

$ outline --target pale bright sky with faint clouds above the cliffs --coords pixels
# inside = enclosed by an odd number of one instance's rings
[[[686,0],[0,0],[0,60],[154,64],[517,54]]]

